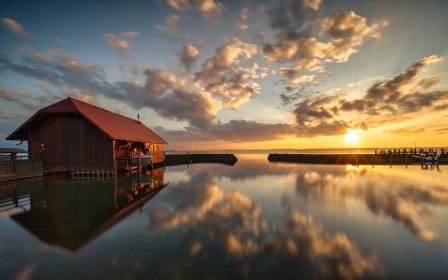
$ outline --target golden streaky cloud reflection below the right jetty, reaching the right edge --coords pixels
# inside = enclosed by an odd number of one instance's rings
[[[398,178],[407,181],[397,184],[394,179],[383,180],[368,171],[347,173],[335,168],[303,168],[297,176],[296,187],[304,198],[338,203],[355,198],[364,201],[373,213],[392,218],[422,240],[436,238],[436,233],[422,228],[419,218],[434,219],[436,215],[429,206],[448,203],[448,189],[437,183]]]

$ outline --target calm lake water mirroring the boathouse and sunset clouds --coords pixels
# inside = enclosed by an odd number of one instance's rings
[[[237,157],[3,185],[0,278],[448,279],[448,166]]]

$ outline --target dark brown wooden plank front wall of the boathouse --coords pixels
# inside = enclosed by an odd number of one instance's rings
[[[29,141],[41,145],[40,154],[30,154],[45,172],[113,169],[112,140],[77,113],[43,114],[29,131]]]

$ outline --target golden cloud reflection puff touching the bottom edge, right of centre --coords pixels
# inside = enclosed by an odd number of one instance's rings
[[[290,211],[281,224],[278,234],[268,237],[264,250],[278,254],[289,263],[307,263],[312,271],[303,277],[343,279],[374,279],[381,274],[381,267],[374,257],[365,257],[346,235],[324,235],[321,228],[313,224],[310,216]],[[283,267],[282,275],[295,276],[296,271]],[[317,275],[316,275],[317,274]]]

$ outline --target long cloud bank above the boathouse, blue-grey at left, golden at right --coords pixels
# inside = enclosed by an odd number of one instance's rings
[[[0,57],[0,65],[7,70],[19,73],[27,78],[45,81],[52,86],[59,87],[59,91],[69,93],[83,92],[88,94],[103,94],[118,100],[126,98],[134,108],[148,106],[159,115],[179,121],[187,121],[194,127],[207,130],[218,111],[222,108],[221,100],[228,106],[236,107],[246,102],[257,93],[257,86],[251,81],[252,76],[261,78],[264,71],[253,65],[251,68],[241,68],[235,65],[251,56],[252,50],[245,49],[244,44],[230,45],[228,49],[219,52],[211,58],[210,65],[217,69],[202,68],[201,75],[207,71],[229,71],[229,81],[222,84],[227,87],[224,93],[214,92],[204,87],[208,80],[193,79],[193,76],[182,75],[171,71],[148,68],[143,75],[144,85],[120,81],[111,83],[105,79],[103,67],[83,64],[73,55],[60,51],[34,52],[23,50],[19,52],[22,62],[11,61]],[[194,62],[198,55],[194,46],[184,49],[183,62],[186,65]],[[225,61],[217,61],[223,58]],[[207,66],[205,66],[207,67]],[[260,70],[261,69],[261,70]],[[212,77],[213,79],[214,77]]]

